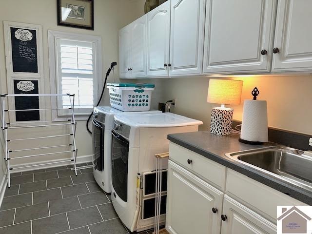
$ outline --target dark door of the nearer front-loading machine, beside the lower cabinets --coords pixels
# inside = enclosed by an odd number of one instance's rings
[[[117,195],[125,202],[128,199],[129,141],[112,131],[112,185]]]

